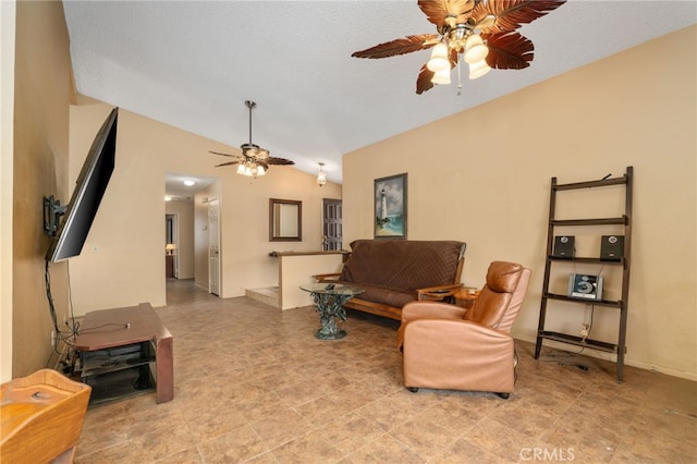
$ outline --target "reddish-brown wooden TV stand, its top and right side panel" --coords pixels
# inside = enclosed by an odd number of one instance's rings
[[[172,333],[162,325],[149,303],[87,313],[80,330],[75,347],[83,354],[119,353],[119,350],[127,353],[129,346],[136,346],[138,343],[151,344],[155,364],[155,371],[151,374],[155,376],[156,401],[164,403],[174,398]],[[109,364],[112,366],[111,371],[133,368],[133,359],[126,359],[119,366],[120,363],[114,357]],[[150,363],[145,359],[143,364],[148,367]]]

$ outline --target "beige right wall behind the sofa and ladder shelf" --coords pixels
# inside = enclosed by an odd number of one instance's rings
[[[550,178],[619,176],[634,166],[626,359],[697,379],[696,35],[688,27],[345,155],[346,243],[372,236],[374,179],[407,172],[409,239],[467,242],[466,284],[481,285],[494,259],[533,268],[514,328],[533,341]],[[559,323],[576,331],[584,309],[564,315]]]

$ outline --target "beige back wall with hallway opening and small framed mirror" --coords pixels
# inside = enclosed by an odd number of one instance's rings
[[[71,179],[76,179],[110,109],[88,98],[71,107]],[[328,183],[320,188],[314,175],[288,167],[272,167],[257,180],[245,178],[233,168],[215,168],[218,159],[208,150],[239,149],[120,110],[114,173],[87,237],[86,252],[71,259],[76,314],[139,302],[154,306],[167,303],[162,231],[168,172],[220,180],[221,296],[242,296],[245,289],[276,284],[278,266],[269,252],[320,249],[321,198],[340,198],[340,185]],[[303,202],[303,242],[269,242],[270,197]],[[201,200],[197,196],[196,211]],[[205,264],[203,253],[197,243],[196,270]],[[198,277],[196,282],[200,284]]]

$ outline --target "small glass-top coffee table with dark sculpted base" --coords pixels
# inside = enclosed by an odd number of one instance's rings
[[[346,320],[344,303],[365,290],[340,283],[308,283],[301,285],[301,290],[313,295],[315,307],[319,313],[322,327],[315,332],[315,337],[321,340],[338,340],[346,337],[346,331],[337,326],[335,318]]]

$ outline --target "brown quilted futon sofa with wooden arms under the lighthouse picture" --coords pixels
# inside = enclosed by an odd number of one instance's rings
[[[465,246],[456,241],[356,240],[341,274],[315,277],[365,291],[344,307],[401,320],[405,304],[442,300],[462,285]]]

